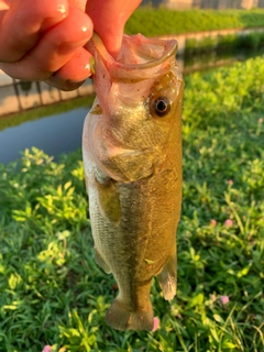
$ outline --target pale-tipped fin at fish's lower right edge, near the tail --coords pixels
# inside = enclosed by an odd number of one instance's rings
[[[170,300],[176,295],[176,284],[177,284],[177,261],[176,253],[170,256],[167,263],[162,268],[161,273],[157,274],[157,280],[162,287],[164,298]]]

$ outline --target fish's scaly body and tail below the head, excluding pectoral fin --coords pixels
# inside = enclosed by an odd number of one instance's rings
[[[173,299],[176,294],[182,166],[173,150],[173,162],[165,163],[166,167],[163,164],[153,176],[131,183],[113,182],[121,209],[118,223],[102,213],[98,187],[89,183],[88,176],[96,261],[107,273],[114,275],[119,286],[107,322],[119,330],[153,329],[150,288],[154,275],[165,299]]]

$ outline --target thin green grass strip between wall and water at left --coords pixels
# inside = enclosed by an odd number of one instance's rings
[[[7,117],[7,116],[0,117],[0,131],[14,125],[22,124],[25,121],[34,121],[51,114],[69,111],[75,108],[90,107],[92,103],[92,100],[94,100],[94,97],[80,97],[80,98],[68,100],[68,101],[63,101],[63,102],[59,101],[59,102],[56,102],[56,105],[25,110],[23,112],[10,114],[10,117]]]

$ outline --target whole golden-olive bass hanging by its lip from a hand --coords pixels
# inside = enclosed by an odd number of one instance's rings
[[[123,35],[113,58],[95,34],[95,102],[82,132],[95,260],[112,273],[118,296],[107,323],[154,328],[151,285],[176,294],[176,229],[182,207],[184,80],[177,41]]]

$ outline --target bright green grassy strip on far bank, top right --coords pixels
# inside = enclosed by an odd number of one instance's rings
[[[264,10],[191,10],[140,8],[125,25],[128,34],[146,36],[264,26]]]

